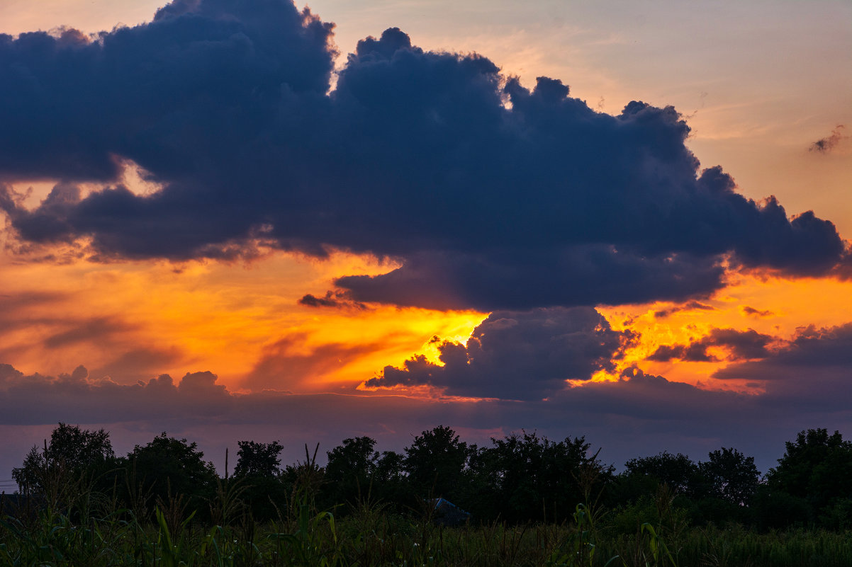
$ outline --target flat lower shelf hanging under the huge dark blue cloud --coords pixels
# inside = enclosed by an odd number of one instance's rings
[[[346,276],[335,284],[357,301],[430,309],[618,305],[655,298],[682,301],[722,287],[715,258],[688,254],[640,257],[605,244],[471,255],[429,252],[378,276]]]

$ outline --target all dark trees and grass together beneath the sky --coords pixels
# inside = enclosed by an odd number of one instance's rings
[[[761,477],[722,448],[636,458],[522,432],[489,447],[452,429],[402,453],[345,439],[282,467],[239,442],[219,477],[165,433],[128,455],[61,424],[0,501],[0,565],[850,565],[852,443],[809,430]],[[469,515],[436,508],[438,497]]]

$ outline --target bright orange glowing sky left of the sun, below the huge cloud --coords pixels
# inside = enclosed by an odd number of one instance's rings
[[[143,349],[142,362],[152,360],[147,374],[135,376],[141,379],[159,373],[179,379],[187,371],[209,369],[239,390],[258,364],[267,360],[274,369],[269,359],[283,357],[283,370],[296,358],[311,372],[286,375],[280,383],[266,376],[264,387],[351,389],[415,352],[429,352],[436,360],[429,344],[433,336],[464,340],[485,318],[478,312],[298,304],[306,293],[324,295],[334,277],[396,267],[369,256],[336,253],[318,261],[276,253],[245,266],[194,261],[56,266],[8,254],[7,296],[53,296],[32,304],[21,300],[16,317],[29,324],[3,330],[4,362],[26,373],[55,375],[84,364],[99,378],[98,369],[110,369],[125,353]],[[61,336],[70,338],[57,339]],[[342,352],[337,359],[319,359],[337,351]],[[312,356],[318,358],[315,364]]]

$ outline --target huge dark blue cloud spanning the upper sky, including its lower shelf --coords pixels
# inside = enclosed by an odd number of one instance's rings
[[[699,170],[671,107],[611,116],[402,31],[358,43],[331,83],[331,26],[285,0],[175,2],[82,37],[0,37],[0,176],[65,180],[20,238],[88,237],[94,257],[233,258],[258,243],[402,266],[337,285],[354,301],[481,310],[683,301],[722,262],[820,275],[832,223]],[[116,184],[131,160],[162,186]],[[74,181],[101,180],[83,195]],[[314,298],[320,303],[321,298]],[[307,301],[311,301],[309,298]]]

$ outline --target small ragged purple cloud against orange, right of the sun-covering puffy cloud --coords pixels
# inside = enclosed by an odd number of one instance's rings
[[[646,360],[669,362],[682,360],[685,362],[719,362],[707,352],[711,346],[722,346],[728,351],[724,360],[744,360],[751,358],[766,358],[769,356],[769,346],[778,341],[777,337],[763,335],[754,329],[740,331],[736,329],[712,329],[710,335],[692,341],[688,345],[660,345]]]

